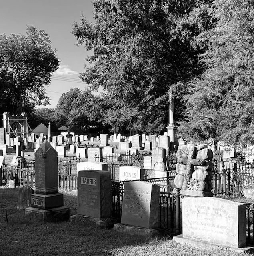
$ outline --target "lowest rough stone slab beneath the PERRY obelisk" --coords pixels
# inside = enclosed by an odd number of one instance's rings
[[[48,210],[43,210],[34,207],[26,208],[26,214],[36,214],[46,222],[60,222],[70,220],[70,208],[67,206],[61,206]]]

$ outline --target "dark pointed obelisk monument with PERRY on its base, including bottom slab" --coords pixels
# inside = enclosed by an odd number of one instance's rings
[[[47,140],[35,152],[35,189],[32,207],[26,213],[42,214],[43,220],[69,220],[70,208],[64,206],[63,194],[58,193],[57,152]]]

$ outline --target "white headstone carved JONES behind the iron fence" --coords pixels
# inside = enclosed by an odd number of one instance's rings
[[[142,180],[146,170],[137,166],[120,166],[119,180]]]

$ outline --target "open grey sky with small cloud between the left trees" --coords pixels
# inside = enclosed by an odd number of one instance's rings
[[[46,31],[52,48],[57,50],[61,63],[46,87],[47,96],[52,99],[47,108],[55,108],[60,96],[71,88],[87,87],[78,76],[91,53],[76,46],[71,34],[72,23],[80,20],[82,12],[93,22],[90,0],[0,0],[0,34],[26,34],[26,25],[33,25]]]

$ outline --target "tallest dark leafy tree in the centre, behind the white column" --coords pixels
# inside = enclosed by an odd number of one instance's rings
[[[112,132],[165,129],[170,86],[184,90],[202,71],[194,38],[212,23],[204,2],[210,1],[95,0],[94,24],[84,17],[74,23],[78,44],[93,50],[81,78],[95,90],[104,88],[104,123]]]

